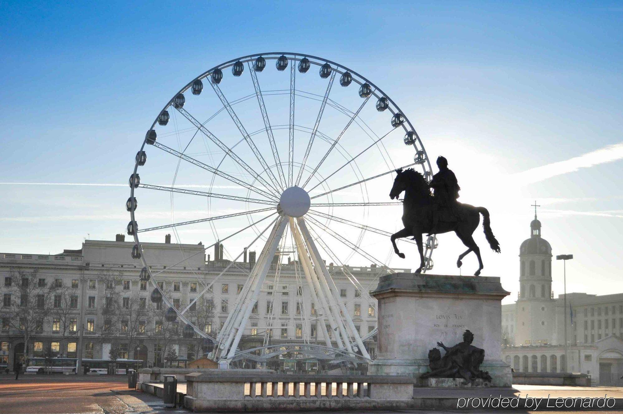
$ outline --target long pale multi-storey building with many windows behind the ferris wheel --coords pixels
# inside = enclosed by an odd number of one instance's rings
[[[231,261],[222,258],[222,248],[211,259],[209,254],[206,257],[205,246],[201,243],[174,244],[170,243],[170,238],[165,242],[143,243],[143,254],[152,274],[159,272],[155,280],[166,296],[175,307],[184,309]],[[60,357],[78,357],[82,350],[83,358],[110,359],[110,349],[117,347],[119,358],[140,359],[144,366],[163,366],[169,347],[176,351],[178,363],[201,357],[203,339],[199,335],[185,338],[184,324],[168,324],[164,318],[166,305],[150,300],[153,286],[151,282],[140,280],[143,265],[140,260],[131,258],[133,244],[118,235],[116,241],[85,240],[81,249],[54,255],[0,253],[0,368],[12,369],[14,361],[24,359],[26,353],[34,357],[50,350]],[[184,314],[213,337],[233,310],[247,281],[254,252],[249,252],[249,262],[246,258],[245,254],[244,261],[235,263],[222,274],[199,298],[196,307]],[[273,262],[273,273],[281,259]],[[343,268],[333,263],[327,267],[355,328],[364,337],[376,327],[376,303],[368,291],[376,287],[378,277],[386,274],[386,269],[376,266]],[[409,269],[394,270],[409,272]],[[356,289],[346,274],[356,277],[363,289]],[[22,283],[20,277],[28,275],[34,275],[32,280],[40,284],[37,295],[43,295],[34,307],[41,306],[45,310],[45,315],[39,316],[34,325],[25,321],[31,328],[17,320],[22,317],[19,316],[22,299],[16,284]],[[48,291],[48,287],[55,289]],[[281,264],[278,285],[267,283],[262,288],[239,348],[261,347],[267,342],[325,345],[322,330],[316,326],[319,305],[310,301],[310,297],[307,284],[301,284],[300,274],[295,272],[295,263]],[[113,302],[117,303],[116,307]],[[201,314],[199,308],[211,311]],[[28,317],[29,314],[24,315]],[[269,326],[270,335],[265,335]],[[22,328],[29,329],[27,347]],[[328,332],[331,335],[331,330]],[[369,354],[374,355],[376,338],[369,337],[364,345]],[[313,362],[299,365],[283,368],[292,371],[318,369]]]

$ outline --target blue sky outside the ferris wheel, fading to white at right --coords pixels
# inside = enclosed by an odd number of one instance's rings
[[[125,185],[146,128],[196,75],[257,52],[320,55],[383,88],[431,157],[449,158],[462,200],[490,209],[503,254],[486,251],[485,276],[503,276],[515,296],[536,199],[554,254],[576,255],[569,290],[621,291],[623,2],[0,7],[2,182]],[[128,221],[127,193],[2,184],[0,251],[58,253],[87,234],[111,239]],[[462,246],[454,235],[441,240],[435,271],[455,272]],[[392,262],[416,267],[405,263]]]

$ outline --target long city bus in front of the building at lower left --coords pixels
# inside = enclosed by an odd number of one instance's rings
[[[109,367],[116,367],[118,374],[125,374],[128,369],[138,370],[143,367],[140,359],[82,359],[82,367],[88,368],[87,372],[97,372],[99,375],[107,374]],[[33,357],[28,359],[27,373],[76,373],[78,367],[77,358],[50,358]]]

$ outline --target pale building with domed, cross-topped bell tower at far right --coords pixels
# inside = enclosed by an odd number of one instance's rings
[[[623,385],[623,293],[568,293],[565,307],[565,295],[551,290],[552,257],[535,213],[520,246],[517,301],[502,306],[506,363],[516,371],[580,372],[594,385]]]

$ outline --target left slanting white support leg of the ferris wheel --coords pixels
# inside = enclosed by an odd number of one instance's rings
[[[288,224],[288,221],[285,217],[279,216],[275,222],[272,232],[270,233],[269,239],[264,245],[264,249],[262,249],[262,261],[255,264],[254,271],[257,268],[257,277],[255,277],[253,281],[255,286],[251,286],[250,292],[252,293],[250,296],[245,298],[244,304],[242,305],[240,312],[234,321],[234,329],[230,330],[229,337],[227,338],[227,342],[224,347],[224,350],[229,349],[229,353],[227,354],[228,360],[231,360],[234,357],[240,338],[242,338],[244,327],[247,325],[251,310],[253,310],[253,306],[255,301],[257,301],[257,296],[262,288],[262,284],[264,284],[264,279],[269,272],[271,259],[275,256],[275,253],[277,253],[277,246],[281,241],[286,224]]]

